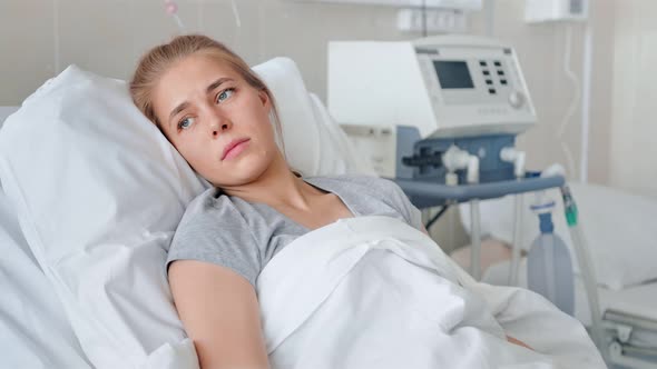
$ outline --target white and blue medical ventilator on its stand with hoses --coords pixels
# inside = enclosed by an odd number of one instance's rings
[[[526,153],[514,147],[516,136],[536,124],[537,116],[513,48],[465,36],[330,42],[327,106],[356,150],[380,176],[400,184],[416,207],[443,206],[444,211],[449,205],[470,202],[475,279],[480,278],[479,201],[516,195],[509,280],[516,285],[522,193],[539,191],[532,209],[541,229],[530,250],[530,288],[572,313],[570,255],[552,232],[553,201],[541,190],[562,190],[568,223],[580,236],[577,210],[562,170],[529,176]],[[597,326],[594,336],[601,345],[595,276],[584,239],[573,239],[579,240],[576,251],[588,281]]]

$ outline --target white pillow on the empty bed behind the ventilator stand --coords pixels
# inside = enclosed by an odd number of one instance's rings
[[[570,184],[579,210],[579,223],[589,246],[598,283],[610,289],[657,279],[657,199],[630,195],[596,184]],[[552,213],[555,233],[570,248],[573,269],[579,272],[577,256],[563,216],[563,203],[557,189],[548,191],[557,200]],[[529,209],[533,193],[524,195],[522,249],[528,249],[539,233],[538,217]],[[481,202],[482,235],[501,241],[513,241],[513,197]],[[461,206],[461,220],[470,231],[470,207]]]

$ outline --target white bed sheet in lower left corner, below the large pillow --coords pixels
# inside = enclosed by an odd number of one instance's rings
[[[0,187],[1,368],[91,368]]]

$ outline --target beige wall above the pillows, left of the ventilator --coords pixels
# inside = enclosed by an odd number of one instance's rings
[[[389,7],[313,4],[287,0],[177,0],[189,32],[204,32],[254,64],[290,56],[311,89],[325,94],[331,39],[403,39]],[[163,0],[0,1],[0,104],[16,104],[70,63],[127,79],[148,48],[176,34]]]

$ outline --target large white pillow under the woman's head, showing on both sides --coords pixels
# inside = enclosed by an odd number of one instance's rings
[[[277,101],[292,166],[306,174],[340,169],[322,164],[340,151],[314,121],[294,63],[280,58],[254,70]],[[137,110],[124,81],[71,66],[46,82],[0,131],[0,180],[96,367],[179,365],[171,352],[195,362],[165,260],[204,181]]]

